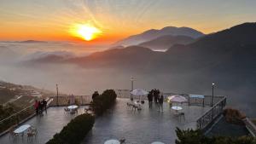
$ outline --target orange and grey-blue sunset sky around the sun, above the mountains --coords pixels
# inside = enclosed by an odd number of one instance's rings
[[[75,25],[100,30],[94,42],[113,42],[164,26],[216,32],[256,21],[255,0],[1,0],[0,40],[81,40]]]

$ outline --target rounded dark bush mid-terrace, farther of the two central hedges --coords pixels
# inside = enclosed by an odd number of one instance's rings
[[[91,107],[97,115],[102,115],[103,112],[112,107],[117,95],[113,89],[105,90],[102,95],[97,95],[92,101]]]

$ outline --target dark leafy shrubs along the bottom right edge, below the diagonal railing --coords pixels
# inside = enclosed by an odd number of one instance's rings
[[[255,138],[252,136],[241,137],[207,137],[203,135],[201,130],[180,130],[176,129],[176,144],[256,144]]]

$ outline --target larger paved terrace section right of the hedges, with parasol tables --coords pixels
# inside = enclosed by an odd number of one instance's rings
[[[153,105],[148,108],[148,101],[140,112],[131,111],[126,107],[128,99],[118,99],[113,113],[106,113],[96,118],[93,130],[84,138],[82,144],[103,144],[108,139],[125,138],[126,143],[150,144],[153,141],[162,141],[166,144],[174,143],[177,138],[175,129],[195,128],[195,120],[210,107],[183,107],[185,120],[174,116],[169,104],[164,103],[164,112],[158,112]]]

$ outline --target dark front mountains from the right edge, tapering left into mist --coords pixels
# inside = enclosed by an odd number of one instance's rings
[[[188,76],[188,83],[218,82],[238,89],[256,86],[256,23],[244,23],[198,38],[187,45],[175,44],[166,52],[141,46],[108,49],[66,62],[84,68],[110,68],[119,72]],[[188,78],[187,78],[188,79]],[[234,94],[232,94],[234,95]]]

